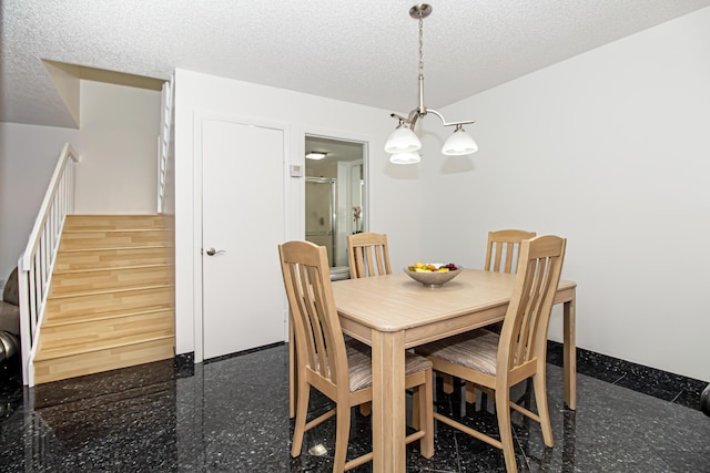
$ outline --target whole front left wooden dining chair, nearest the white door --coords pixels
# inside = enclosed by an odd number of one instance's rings
[[[373,399],[371,348],[354,339],[345,341],[325,247],[311,241],[287,241],[278,245],[278,254],[296,346],[297,400],[291,455],[301,454],[307,430],[337,413],[333,471],[351,470],[373,457],[369,452],[346,462],[351,408]],[[406,442],[420,440],[425,457],[434,455],[432,379],[432,363],[407,352],[405,387],[417,391],[419,429],[407,435]],[[306,421],[311,387],[334,401],[335,408]]]

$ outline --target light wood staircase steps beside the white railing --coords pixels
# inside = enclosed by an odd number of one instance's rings
[[[174,357],[172,238],[163,218],[67,216],[34,358],[37,384]]]

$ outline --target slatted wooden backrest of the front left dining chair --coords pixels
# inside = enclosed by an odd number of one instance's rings
[[[278,245],[300,363],[348,385],[345,339],[335,309],[326,248],[311,241]]]

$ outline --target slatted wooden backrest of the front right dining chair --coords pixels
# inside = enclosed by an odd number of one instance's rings
[[[565,246],[566,239],[554,235],[542,235],[521,243],[515,289],[500,331],[499,374],[508,373],[536,358],[545,358],[547,330]]]

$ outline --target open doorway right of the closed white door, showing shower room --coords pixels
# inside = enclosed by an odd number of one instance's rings
[[[347,236],[366,232],[365,143],[306,135],[305,239],[328,250],[331,279],[347,278]]]

